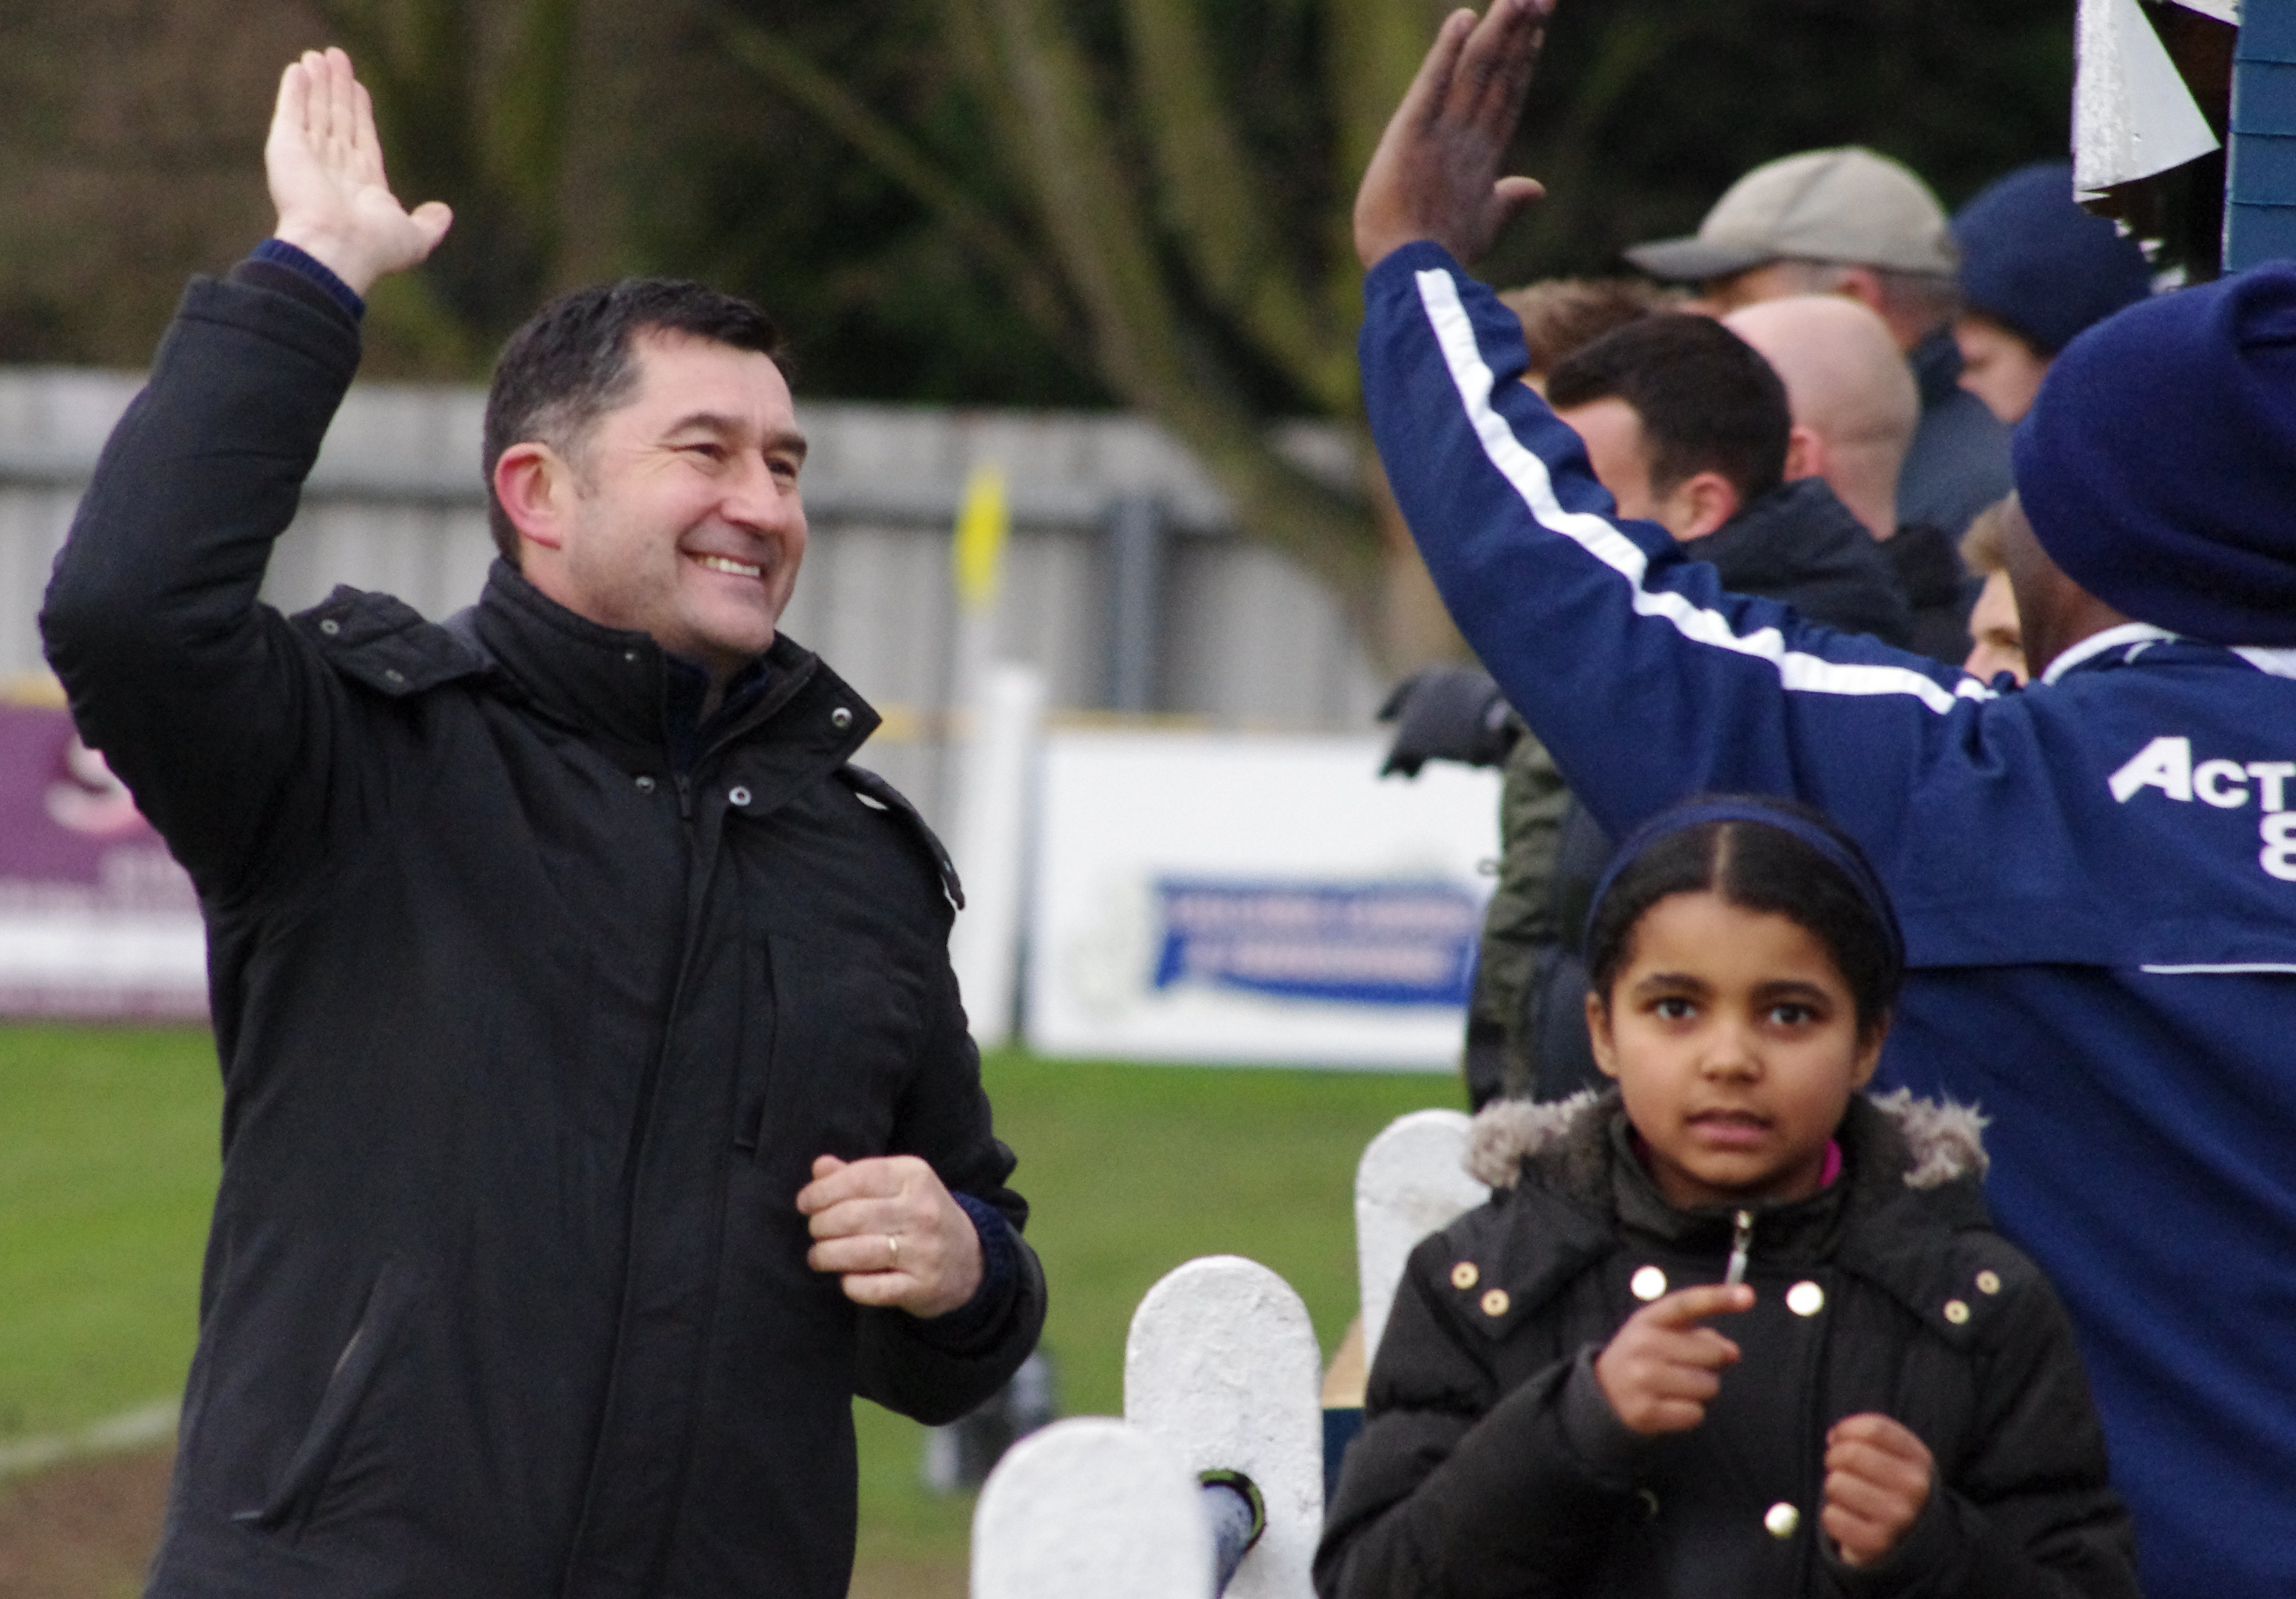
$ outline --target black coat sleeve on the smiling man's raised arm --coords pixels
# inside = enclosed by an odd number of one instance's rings
[[[317,825],[338,689],[257,590],[356,368],[358,326],[324,299],[195,280],[41,607],[80,735],[207,896]]]

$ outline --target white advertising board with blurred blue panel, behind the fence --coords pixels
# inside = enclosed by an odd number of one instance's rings
[[[1499,777],[1380,779],[1380,737],[1054,733],[1026,1038],[1040,1055],[1458,1064]]]

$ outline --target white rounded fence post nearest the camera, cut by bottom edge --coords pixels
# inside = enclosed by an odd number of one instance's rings
[[[1109,1415],[1029,1434],[974,1507],[971,1599],[1212,1599],[1194,1473]]]

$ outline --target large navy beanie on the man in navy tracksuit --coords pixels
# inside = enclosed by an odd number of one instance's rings
[[[2011,453],[2034,538],[2115,611],[2296,646],[2296,262],[2099,322]]]

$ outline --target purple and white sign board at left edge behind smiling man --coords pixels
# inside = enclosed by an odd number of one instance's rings
[[[71,717],[32,705],[0,705],[0,1015],[207,1015],[191,878]]]

